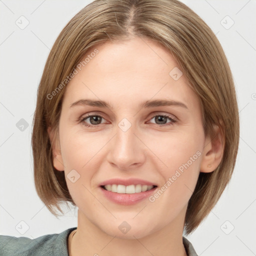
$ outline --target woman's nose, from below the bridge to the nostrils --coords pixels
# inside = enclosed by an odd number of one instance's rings
[[[120,126],[121,127],[121,126]],[[136,134],[134,125],[126,131],[116,127],[116,134],[109,144],[107,160],[118,169],[129,170],[137,168],[145,160],[146,146]]]

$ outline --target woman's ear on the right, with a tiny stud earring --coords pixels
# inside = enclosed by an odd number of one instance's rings
[[[224,136],[217,125],[214,125],[214,132],[215,135],[212,139],[208,135],[206,136],[202,152],[200,172],[211,172],[215,170],[222,159]]]

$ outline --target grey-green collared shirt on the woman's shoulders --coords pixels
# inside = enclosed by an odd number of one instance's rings
[[[34,239],[0,235],[1,256],[68,256],[67,238],[76,227],[71,227],[59,234],[45,234]],[[192,244],[182,236],[188,256],[198,256]]]

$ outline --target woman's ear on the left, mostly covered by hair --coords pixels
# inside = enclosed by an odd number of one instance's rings
[[[63,159],[61,156],[61,149],[60,149],[60,143],[59,143],[59,136],[56,134],[57,132],[54,132],[51,130],[51,127],[49,126],[47,128],[47,132],[49,134],[51,148],[52,148],[52,155],[53,155],[53,166],[57,170],[64,170],[63,165]]]

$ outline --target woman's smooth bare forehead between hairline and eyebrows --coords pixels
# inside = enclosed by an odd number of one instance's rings
[[[174,79],[173,73],[179,76],[181,71],[172,54],[150,39],[108,41],[91,47],[81,61],[67,85],[63,104],[93,98],[131,107],[136,101],[161,98],[199,106],[185,76]]]

